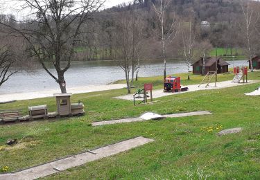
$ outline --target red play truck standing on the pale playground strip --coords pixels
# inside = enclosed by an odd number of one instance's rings
[[[180,77],[169,76],[164,80],[164,91],[179,92],[188,90],[188,87],[181,87]]]

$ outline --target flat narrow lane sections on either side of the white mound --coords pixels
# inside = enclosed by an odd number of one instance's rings
[[[196,111],[196,112],[189,112],[189,113],[180,113],[180,114],[166,114],[163,115],[163,118],[180,118],[180,117],[187,117],[187,116],[199,116],[199,115],[209,115],[211,112],[209,111]],[[100,125],[112,125],[112,124],[119,124],[119,123],[132,123],[132,122],[139,122],[145,121],[142,118],[126,118],[126,119],[118,119],[118,120],[106,120],[106,121],[99,121],[92,123],[92,126],[100,126]]]

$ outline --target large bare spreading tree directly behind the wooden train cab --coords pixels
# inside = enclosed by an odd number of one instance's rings
[[[66,93],[64,73],[71,66],[75,55],[75,46],[80,36],[86,33],[82,25],[87,23],[98,11],[105,0],[20,0],[23,8],[32,14],[27,21],[9,27],[15,34],[21,35],[27,42],[28,52],[35,57],[44,70]],[[45,62],[51,62],[56,75],[49,71]],[[62,63],[64,62],[64,63]],[[64,66],[62,66],[64,64]]]

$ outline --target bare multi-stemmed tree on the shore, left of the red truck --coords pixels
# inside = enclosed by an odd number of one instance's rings
[[[134,74],[139,69],[139,58],[142,50],[142,19],[135,10],[121,13],[114,31],[114,49],[116,60],[125,72],[128,93],[131,93]]]

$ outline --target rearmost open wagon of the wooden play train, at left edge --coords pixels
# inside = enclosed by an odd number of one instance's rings
[[[0,111],[0,123],[19,122],[22,119],[21,111]]]

